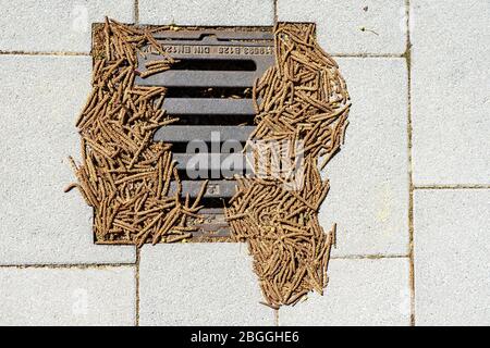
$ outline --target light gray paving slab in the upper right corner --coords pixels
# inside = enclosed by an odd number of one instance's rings
[[[414,182],[490,184],[490,2],[411,4]]]

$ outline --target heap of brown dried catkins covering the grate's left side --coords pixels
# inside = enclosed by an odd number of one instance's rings
[[[194,231],[189,217],[199,217],[201,195],[194,202],[181,199],[170,145],[152,142],[158,127],[177,121],[161,109],[166,88],[134,84],[135,75],[143,75],[136,57],[143,47],[164,57],[146,66],[146,76],[174,63],[151,35],[164,28],[135,28],[106,20],[103,29],[95,34],[93,90],[76,122],[82,163],[71,159],[78,183],[66,190],[78,188],[94,208],[99,244],[183,240]],[[177,183],[173,192],[171,181]]]

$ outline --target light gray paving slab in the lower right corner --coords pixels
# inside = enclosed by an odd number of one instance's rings
[[[490,190],[416,190],[417,325],[490,325]]]

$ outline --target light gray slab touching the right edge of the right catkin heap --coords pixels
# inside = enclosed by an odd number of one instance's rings
[[[327,165],[319,219],[333,254],[407,254],[407,74],[403,59],[338,59],[352,97],[342,150]]]

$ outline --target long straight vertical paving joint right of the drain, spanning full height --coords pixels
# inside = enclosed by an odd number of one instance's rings
[[[406,50],[404,58],[407,67],[407,145],[408,145],[408,263],[411,291],[411,326],[415,326],[415,257],[414,257],[414,162],[413,162],[413,125],[412,125],[412,41],[411,41],[411,2],[405,0]]]

